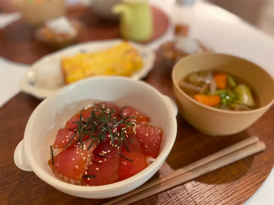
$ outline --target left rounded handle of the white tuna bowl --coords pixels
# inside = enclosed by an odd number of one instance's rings
[[[27,161],[25,151],[24,151],[24,140],[21,140],[19,144],[17,145],[15,151],[13,160],[15,162],[15,165],[24,171],[32,171],[31,167],[29,166],[29,163]]]

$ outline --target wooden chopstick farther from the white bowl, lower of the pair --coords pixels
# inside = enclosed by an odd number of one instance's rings
[[[136,202],[138,200],[141,200],[153,194],[164,191],[168,188],[172,188],[173,186],[180,185],[186,181],[199,177],[210,171],[213,171],[215,169],[231,164],[235,161],[238,161],[240,159],[243,159],[245,157],[258,153],[260,151],[263,151],[264,149],[265,149],[264,142],[256,142],[255,144],[249,145],[247,147],[244,147],[243,149],[240,149],[224,157],[216,159],[215,161],[209,162],[206,165],[193,169],[191,172],[184,173],[183,175],[175,177],[160,185],[153,186],[152,188],[147,189],[144,192],[140,192],[136,194],[135,196],[131,196],[130,198],[126,198],[125,200],[119,201],[119,205],[128,205],[130,203]]]

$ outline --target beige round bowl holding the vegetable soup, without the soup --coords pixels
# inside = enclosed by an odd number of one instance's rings
[[[257,93],[261,107],[249,111],[221,110],[199,103],[179,88],[182,77],[196,70],[209,69],[228,72],[249,83]],[[179,112],[194,128],[211,136],[232,135],[245,130],[274,102],[273,78],[258,65],[231,55],[202,53],[182,58],[174,66],[172,81]]]

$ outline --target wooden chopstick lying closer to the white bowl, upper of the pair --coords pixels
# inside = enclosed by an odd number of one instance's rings
[[[237,150],[240,150],[244,147],[247,147],[251,144],[254,144],[256,142],[259,142],[259,138],[257,136],[254,136],[254,137],[250,137],[250,138],[247,138],[245,140],[242,140],[241,142],[238,142],[234,145],[231,145],[230,147],[227,147],[225,149],[222,149],[221,151],[218,151],[212,155],[209,155],[208,157],[205,157],[201,160],[198,160],[190,165],[187,165],[181,169],[177,169],[176,171],[172,172],[171,174],[167,175],[167,176],[164,176],[160,179],[156,179],[146,185],[143,185],[143,186],[140,186],[139,188],[136,188],[135,190],[132,190],[131,192],[128,192],[126,194],[123,194],[121,196],[119,196],[118,198],[115,198],[109,202],[106,202],[105,204],[103,205],[112,205],[112,204],[115,204],[117,202],[120,202],[126,198],[129,198],[130,196],[133,196],[133,195],[136,195],[140,192],[143,192],[144,190],[148,190],[149,188],[152,188],[154,186],[157,186],[157,185],[160,185],[166,181],[169,181],[175,177],[178,177],[178,176],[181,176],[182,174],[190,171],[190,170],[193,170],[193,169],[196,169],[197,167],[200,167],[200,166],[203,166],[209,162],[212,162],[218,158],[221,158],[225,155],[228,155],[230,153],[233,153]],[[120,203],[119,203],[120,204]]]

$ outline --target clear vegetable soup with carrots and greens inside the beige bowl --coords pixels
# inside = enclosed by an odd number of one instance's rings
[[[181,79],[178,85],[196,101],[215,108],[246,111],[259,107],[253,89],[228,73],[197,71]]]

